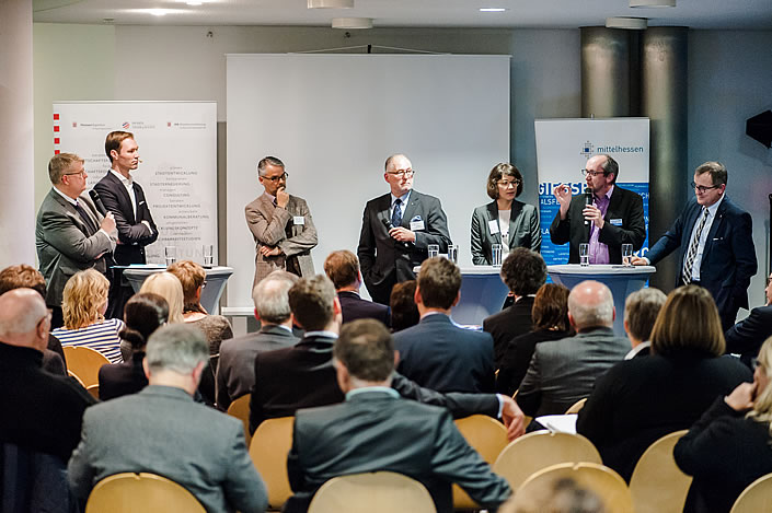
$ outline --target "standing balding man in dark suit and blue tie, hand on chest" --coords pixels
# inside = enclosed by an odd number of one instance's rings
[[[357,256],[373,301],[389,304],[394,283],[413,280],[413,268],[428,256],[429,244],[448,253],[450,232],[439,199],[413,190],[413,164],[402,154],[385,161],[391,191],[365,206]]]

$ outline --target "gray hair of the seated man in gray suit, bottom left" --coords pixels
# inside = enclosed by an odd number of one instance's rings
[[[195,326],[168,324],[150,336],[145,358],[153,372],[187,374],[200,362],[209,361],[209,343]]]

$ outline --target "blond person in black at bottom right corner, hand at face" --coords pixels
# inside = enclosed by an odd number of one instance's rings
[[[676,463],[694,476],[687,513],[728,513],[748,485],[772,473],[772,337],[756,363],[753,383],[717,397],[676,444]]]

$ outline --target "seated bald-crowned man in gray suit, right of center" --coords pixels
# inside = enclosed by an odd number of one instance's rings
[[[614,335],[617,312],[611,291],[587,280],[568,294],[568,322],[574,337],[537,345],[517,394],[523,413],[565,413],[574,403],[590,395],[595,381],[624,359],[630,342]]]

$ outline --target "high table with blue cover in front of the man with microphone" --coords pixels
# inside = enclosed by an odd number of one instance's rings
[[[574,285],[585,280],[596,280],[611,289],[614,296],[617,318],[614,333],[624,336],[624,301],[627,295],[643,289],[648,277],[657,269],[654,266],[624,267],[621,265],[592,265],[580,266],[566,264],[562,266],[548,266],[546,272],[552,281],[573,289]]]

